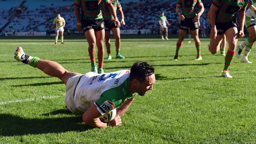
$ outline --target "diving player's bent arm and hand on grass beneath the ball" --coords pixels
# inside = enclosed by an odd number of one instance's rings
[[[103,123],[100,121],[100,112],[97,110],[96,105],[92,105],[85,113],[83,113],[83,122],[91,127],[107,127],[107,126],[121,126],[121,118],[116,115],[113,120],[108,123]]]

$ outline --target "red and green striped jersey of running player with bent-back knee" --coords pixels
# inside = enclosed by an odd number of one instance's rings
[[[216,12],[216,22],[231,22],[236,19],[238,11],[245,11],[248,0],[213,0],[213,5],[219,7]]]

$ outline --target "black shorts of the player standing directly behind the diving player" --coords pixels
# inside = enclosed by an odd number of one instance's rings
[[[95,30],[95,31],[100,31],[100,30],[104,30],[105,26],[104,26],[104,20],[98,19],[98,20],[84,20],[82,19],[81,21],[82,23],[82,28],[83,28],[83,32],[87,31],[87,30]]]

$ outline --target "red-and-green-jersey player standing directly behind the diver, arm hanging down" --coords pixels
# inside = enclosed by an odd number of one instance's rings
[[[114,17],[115,24],[120,27],[120,22],[117,19],[117,14],[114,6],[110,0],[75,0],[75,14],[77,21],[77,31],[85,33],[85,37],[89,44],[88,52],[91,59],[91,71],[96,73],[104,73],[103,71],[103,59],[104,59],[104,37],[105,26],[102,17],[102,7],[107,6],[111,14]],[[80,7],[82,7],[82,13],[80,15]],[[98,48],[98,69],[96,65],[95,45]]]

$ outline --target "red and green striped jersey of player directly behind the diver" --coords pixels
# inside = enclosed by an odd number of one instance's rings
[[[82,7],[82,19],[96,20],[102,18],[101,9],[111,3],[110,0],[74,0],[74,4]]]

